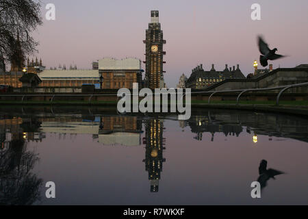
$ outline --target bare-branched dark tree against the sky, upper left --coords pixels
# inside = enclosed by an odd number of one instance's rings
[[[34,53],[38,42],[30,34],[41,24],[40,0],[0,0],[0,57],[20,62],[19,44],[23,55]]]

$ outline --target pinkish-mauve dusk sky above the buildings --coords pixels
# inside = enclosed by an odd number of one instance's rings
[[[45,5],[55,4],[55,21],[45,19]],[[261,5],[261,21],[251,20],[251,5]],[[34,37],[40,42],[38,57],[50,68],[73,62],[78,68],[92,68],[103,57],[137,57],[145,60],[145,30],[151,10],[159,10],[166,55],[167,86],[175,87],[182,73],[203,64],[236,66],[244,75],[258,60],[257,35],[270,49],[289,55],[270,62],[274,68],[308,63],[308,1],[296,0],[43,0],[43,25]],[[144,65],[142,66],[144,68]]]

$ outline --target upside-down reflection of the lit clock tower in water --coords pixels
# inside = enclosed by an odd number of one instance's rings
[[[165,139],[163,138],[164,122],[159,119],[146,120],[145,122],[145,138],[146,155],[143,162],[146,171],[149,172],[149,180],[151,181],[151,192],[158,192],[159,179],[166,159],[163,157],[165,149]]]

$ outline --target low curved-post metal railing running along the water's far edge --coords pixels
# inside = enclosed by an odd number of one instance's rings
[[[240,94],[238,94],[237,99],[236,99],[236,104],[238,105],[240,102],[240,97],[242,96],[242,94],[246,93],[246,92],[258,92],[258,91],[267,91],[267,90],[280,90],[279,94],[277,95],[277,99],[276,99],[276,105],[279,105],[279,99],[281,97],[281,95],[283,94],[283,92],[285,92],[286,90],[290,89],[290,88],[299,88],[299,87],[304,87],[304,86],[308,86],[308,82],[305,83],[295,83],[295,84],[291,84],[291,85],[287,85],[287,86],[279,86],[279,87],[274,87],[274,88],[254,88],[254,89],[242,89],[242,90],[217,90],[217,91],[197,91],[197,92],[190,92],[191,94],[210,94],[209,99],[208,99],[208,103],[211,104],[211,98],[218,93],[231,93],[231,92],[240,92]],[[134,94],[131,94],[134,95]],[[51,96],[51,104],[53,103],[53,100],[55,99],[55,97],[57,96],[89,96],[88,99],[88,103],[89,105],[91,104],[91,100],[93,98],[93,96],[117,96],[116,94],[0,94],[0,96],[21,96],[21,102],[23,103],[25,97],[29,97],[29,96]],[[185,96],[185,92],[183,93],[183,96]],[[183,98],[182,96],[182,98]]]

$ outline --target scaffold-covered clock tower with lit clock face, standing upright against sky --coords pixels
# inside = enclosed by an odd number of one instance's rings
[[[163,51],[163,45],[166,40],[163,39],[163,31],[159,23],[159,12],[151,11],[151,23],[149,29],[146,29],[146,40],[143,41],[146,45],[146,84],[150,89],[164,87],[163,56],[166,52]]]

